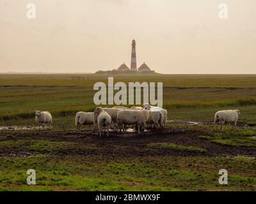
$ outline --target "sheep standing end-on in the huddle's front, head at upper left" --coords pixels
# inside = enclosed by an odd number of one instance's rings
[[[101,137],[102,129],[104,129],[104,133],[107,129],[108,131],[107,136],[109,136],[109,128],[111,128],[111,116],[101,107],[96,108],[93,113],[94,115],[98,115],[97,123],[98,123],[100,137]]]

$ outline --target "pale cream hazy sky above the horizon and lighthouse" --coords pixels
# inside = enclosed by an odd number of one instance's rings
[[[159,73],[256,73],[256,1],[0,0],[0,72],[130,66],[133,38],[137,66]]]

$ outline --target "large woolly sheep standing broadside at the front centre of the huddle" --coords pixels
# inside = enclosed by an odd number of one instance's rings
[[[149,117],[148,110],[120,110],[117,113],[117,124],[121,133],[124,125],[136,125],[138,133],[143,129]]]

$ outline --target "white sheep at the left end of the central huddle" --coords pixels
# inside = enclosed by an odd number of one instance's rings
[[[94,113],[92,112],[77,112],[76,113],[76,126],[79,130],[82,125],[92,125],[94,131]]]

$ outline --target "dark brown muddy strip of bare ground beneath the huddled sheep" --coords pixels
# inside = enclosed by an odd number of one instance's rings
[[[3,134],[3,133],[1,133]],[[0,157],[26,157],[31,155],[49,156],[102,156],[114,159],[118,157],[133,156],[246,156],[256,157],[256,149],[250,147],[232,147],[218,145],[198,138],[207,135],[203,131],[194,130],[170,130],[163,132],[141,133],[141,135],[130,133],[128,136],[113,133],[109,138],[90,133],[65,132],[65,131],[33,131],[31,133],[6,133],[1,141],[8,140],[47,140],[55,142],[74,142],[74,147],[65,150],[54,150],[42,153],[24,149],[24,147],[0,148]],[[148,143],[175,143],[177,145],[200,147],[207,152],[188,152],[175,149],[164,149],[159,147],[148,147]]]

